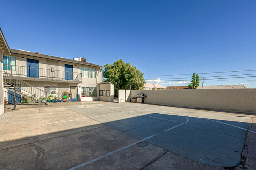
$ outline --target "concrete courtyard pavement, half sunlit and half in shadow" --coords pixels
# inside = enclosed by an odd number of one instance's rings
[[[242,152],[254,169],[255,118],[102,101],[18,106],[0,116],[0,169],[223,169]]]

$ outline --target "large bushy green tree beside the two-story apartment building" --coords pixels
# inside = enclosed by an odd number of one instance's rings
[[[114,84],[114,95],[117,96],[117,91],[120,89],[140,90],[144,88],[143,73],[130,63],[124,63],[122,59],[117,60],[112,64],[105,64],[103,71],[104,81],[109,81]]]

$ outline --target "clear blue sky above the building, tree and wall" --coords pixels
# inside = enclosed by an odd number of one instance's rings
[[[193,72],[255,70],[255,7],[254,0],[9,0],[1,2],[0,27],[10,48],[102,66],[122,58],[166,87],[187,85]],[[181,75],[161,76],[173,74]],[[237,74],[256,71],[199,76]],[[181,79],[159,81],[173,78]],[[256,88],[256,77],[204,82],[233,84]]]

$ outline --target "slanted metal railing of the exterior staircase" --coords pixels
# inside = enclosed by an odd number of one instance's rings
[[[44,90],[41,90],[23,80],[20,80],[19,78],[13,76],[12,74],[7,73],[6,71],[3,71],[3,73],[4,73],[4,76],[10,76],[9,78],[4,78],[4,81],[6,83],[14,86],[13,78],[15,78],[16,79],[15,84],[18,89],[21,89],[22,91],[30,93],[32,97],[37,97],[37,98],[43,97],[47,99],[47,94]]]

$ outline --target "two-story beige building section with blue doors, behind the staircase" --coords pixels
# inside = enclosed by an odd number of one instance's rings
[[[98,83],[102,82],[102,66],[84,61],[10,49],[3,56],[4,77],[15,76],[58,98],[72,92],[71,101],[98,100]],[[8,74],[6,74],[8,73]],[[39,96],[41,97],[41,96]]]

